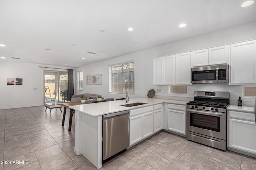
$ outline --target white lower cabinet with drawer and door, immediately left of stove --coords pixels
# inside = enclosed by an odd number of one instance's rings
[[[186,135],[186,106],[168,104],[167,130]]]

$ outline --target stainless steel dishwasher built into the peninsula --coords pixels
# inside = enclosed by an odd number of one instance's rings
[[[104,161],[129,147],[129,110],[103,115],[102,121]]]

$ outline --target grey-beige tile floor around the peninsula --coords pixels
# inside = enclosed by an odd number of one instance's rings
[[[64,127],[59,109],[51,114],[44,110],[44,106],[0,110],[0,160],[11,162],[2,162],[0,170],[96,170],[84,156],[74,153],[74,119],[68,132],[68,109]],[[256,170],[256,158],[222,152],[162,131],[101,169]]]

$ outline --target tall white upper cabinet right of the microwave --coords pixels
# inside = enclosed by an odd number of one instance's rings
[[[256,41],[231,45],[230,84],[256,84]]]

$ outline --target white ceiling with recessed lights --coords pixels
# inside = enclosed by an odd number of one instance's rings
[[[0,57],[6,57],[0,61],[68,67],[94,63],[255,21],[256,2],[245,8],[242,2],[0,0],[0,44],[6,45],[0,47]],[[187,26],[179,28],[180,23]],[[128,27],[134,31],[127,31]]]

